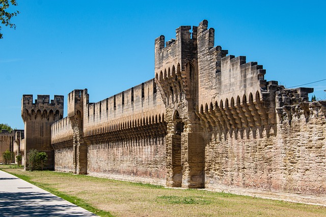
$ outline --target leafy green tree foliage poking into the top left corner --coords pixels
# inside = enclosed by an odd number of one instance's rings
[[[14,11],[12,13],[8,12],[9,6],[17,6],[16,0],[0,0],[0,21],[1,24],[5,26],[9,26],[10,28],[16,29],[16,25],[10,22],[10,19],[13,16],[17,16],[19,14],[19,11]],[[3,38],[3,34],[1,33],[2,27],[0,26],[0,39]]]

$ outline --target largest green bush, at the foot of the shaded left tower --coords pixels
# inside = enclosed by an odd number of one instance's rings
[[[36,149],[31,149],[27,156],[26,169],[28,170],[43,170],[47,160],[47,154],[43,151],[39,152]]]

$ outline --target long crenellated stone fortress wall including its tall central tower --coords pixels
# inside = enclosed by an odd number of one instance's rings
[[[55,170],[326,204],[326,101],[214,47],[206,20],[190,29],[155,39],[154,79],[97,103],[70,92],[51,123]]]

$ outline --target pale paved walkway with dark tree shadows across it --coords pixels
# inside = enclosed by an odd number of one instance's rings
[[[97,216],[0,170],[0,216]]]

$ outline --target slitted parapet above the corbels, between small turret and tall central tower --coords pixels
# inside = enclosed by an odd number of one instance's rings
[[[89,103],[84,109],[84,135],[91,135],[101,129],[115,129],[118,126],[144,119],[164,116],[165,106],[157,95],[154,79],[127,89],[97,103]],[[151,121],[150,120],[150,121]]]

